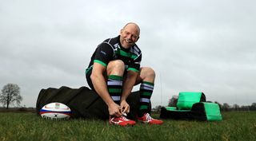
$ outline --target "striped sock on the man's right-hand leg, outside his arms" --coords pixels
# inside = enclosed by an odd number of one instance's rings
[[[154,89],[154,83],[150,83],[146,81],[142,82],[139,89],[140,106],[138,110],[138,117],[142,117],[146,112],[149,112],[148,108],[150,106],[150,97],[152,95],[153,89]]]

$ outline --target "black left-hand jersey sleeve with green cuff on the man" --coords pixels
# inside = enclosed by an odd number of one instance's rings
[[[106,67],[106,65],[113,59],[114,51],[112,47],[103,42],[98,45],[98,48],[95,51],[94,62],[101,64]]]

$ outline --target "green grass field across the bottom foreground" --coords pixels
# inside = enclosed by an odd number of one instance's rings
[[[218,122],[165,119],[161,126],[118,127],[101,120],[54,121],[34,113],[0,112],[0,140],[256,140],[256,112],[224,112],[222,117]]]

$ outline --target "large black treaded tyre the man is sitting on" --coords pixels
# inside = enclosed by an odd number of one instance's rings
[[[128,118],[136,119],[139,108],[139,92],[131,92],[126,101],[130,104]],[[71,109],[71,118],[109,119],[105,102],[96,92],[87,87],[69,88],[62,86],[61,88],[42,89],[36,104],[38,115],[44,105],[52,102],[66,104]]]

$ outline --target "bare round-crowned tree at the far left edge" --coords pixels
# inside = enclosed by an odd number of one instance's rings
[[[6,84],[3,86],[0,94],[0,103],[6,106],[7,109],[10,104],[21,104],[22,96],[20,95],[20,89],[18,84]]]

